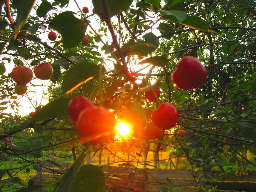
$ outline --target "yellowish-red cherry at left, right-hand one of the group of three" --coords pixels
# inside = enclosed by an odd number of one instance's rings
[[[53,68],[49,63],[43,62],[34,68],[35,76],[41,80],[47,80],[52,77]]]

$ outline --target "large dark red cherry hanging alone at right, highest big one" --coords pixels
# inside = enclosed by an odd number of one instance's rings
[[[172,72],[172,82],[180,89],[192,90],[204,84],[206,69],[195,57],[183,57]]]

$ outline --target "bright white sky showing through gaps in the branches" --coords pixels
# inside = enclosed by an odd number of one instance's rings
[[[42,1],[36,1],[37,5],[40,5]],[[53,2],[52,0],[49,0],[49,2]],[[89,13],[88,14],[92,14],[92,9],[93,9],[93,5],[92,5],[92,1],[91,0],[85,0],[85,1],[77,1],[77,3],[80,5],[80,8],[82,9],[84,6],[87,6],[89,8]],[[68,6],[62,8],[62,9],[58,9],[57,11],[50,11],[50,12],[57,12],[60,13],[60,11],[73,11],[73,12],[77,12],[79,11],[75,1],[74,0],[70,0]],[[30,12],[30,15],[36,15],[36,10],[33,9]],[[92,27],[98,31],[98,29],[100,28],[100,25],[98,23],[98,21],[96,20],[96,18],[98,18],[97,15],[92,16],[89,18],[89,20],[91,21],[91,25]],[[15,18],[14,18],[15,19]],[[117,22],[117,17],[112,17],[111,18],[112,21]],[[158,26],[158,24],[155,25],[155,28],[153,28],[151,31],[147,31],[147,32],[153,32],[156,36],[161,35],[159,30],[156,29],[156,27]],[[124,28],[124,27],[123,27]],[[42,30],[41,30],[42,31]],[[47,32],[40,34],[38,37],[42,39],[43,42],[47,42],[49,43],[50,41],[48,40],[48,30],[46,30]],[[89,27],[87,28],[86,33],[89,31]],[[106,41],[110,41],[110,34],[107,32],[107,37],[103,36],[102,39],[104,42]],[[52,44],[50,44],[52,45]],[[98,45],[100,45],[100,47],[102,46],[101,43],[98,43]],[[104,53],[102,52],[102,55],[104,55]],[[3,57],[9,57],[7,55],[1,55],[0,56],[0,60],[2,60]],[[107,56],[106,56],[107,57]],[[14,68],[14,63],[12,61],[12,57],[11,57],[11,62],[7,64],[6,61],[4,61],[5,63],[5,68],[6,68],[6,72],[4,73],[4,75],[8,75],[12,69]],[[29,64],[32,60],[23,60],[25,66],[26,63]],[[108,65],[109,68],[113,68],[113,63],[106,60],[106,63]],[[144,64],[144,65],[140,65],[140,66],[136,66],[135,67],[135,71],[144,68],[145,66],[147,66],[148,64]],[[144,70],[140,71],[140,73],[147,73],[150,67],[145,68]],[[32,69],[32,68],[31,68]],[[52,82],[51,81],[45,81],[45,80],[40,80],[35,78],[35,76],[33,77],[33,80],[31,81],[31,83],[27,84],[28,86],[28,91],[27,94],[23,95],[23,96],[18,96],[17,99],[10,99],[8,98],[8,100],[11,100],[11,102],[17,102],[20,104],[20,107],[15,107],[15,113],[19,114],[21,116],[26,116],[28,115],[30,112],[35,111],[35,107],[38,106],[38,104],[41,105],[45,105],[48,103],[48,97],[47,97],[47,85],[50,85]],[[43,96],[44,95],[44,96]],[[8,101],[7,100],[7,101]],[[5,106],[7,107],[7,106]],[[8,109],[6,109],[4,112],[5,113],[12,113],[12,115],[14,115],[14,111],[10,108],[10,106],[8,107]]]

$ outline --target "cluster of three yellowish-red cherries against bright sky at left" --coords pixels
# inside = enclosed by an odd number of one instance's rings
[[[34,74],[38,79],[47,80],[52,77],[53,68],[49,63],[43,62],[34,68]],[[27,84],[32,80],[32,70],[24,66],[16,66],[11,72],[12,79],[17,83],[14,87],[18,95],[24,95],[27,90]]]

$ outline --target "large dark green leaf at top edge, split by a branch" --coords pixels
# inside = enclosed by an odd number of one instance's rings
[[[110,17],[113,17],[114,15],[128,9],[132,4],[132,1],[133,0],[125,0],[125,1],[107,0]],[[95,13],[98,15],[101,15],[101,13],[103,12],[101,0],[92,0],[92,4],[93,4]]]

